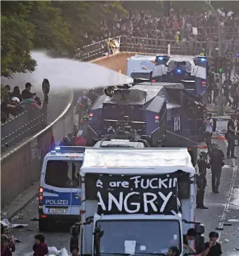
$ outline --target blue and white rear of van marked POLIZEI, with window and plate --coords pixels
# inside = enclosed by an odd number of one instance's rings
[[[82,158],[49,158],[44,163],[45,172],[42,173],[44,177],[41,182],[44,214],[52,217],[56,215],[57,218],[63,215],[64,218],[73,213],[71,212],[72,203],[74,203],[72,195],[80,193],[75,161],[78,162],[78,166],[82,165]],[[79,205],[80,199],[78,199],[78,208]]]

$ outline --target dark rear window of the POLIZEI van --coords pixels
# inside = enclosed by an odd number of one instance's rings
[[[79,188],[82,161],[48,160],[45,184],[57,188]]]

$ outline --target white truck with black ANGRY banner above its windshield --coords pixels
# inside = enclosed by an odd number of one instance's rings
[[[71,227],[80,255],[167,255],[195,227],[195,169],[187,148],[86,148],[80,169],[81,223]]]

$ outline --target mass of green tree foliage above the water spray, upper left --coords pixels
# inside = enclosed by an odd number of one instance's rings
[[[34,48],[73,55],[115,14],[126,14],[119,1],[1,1],[1,76],[33,72]]]

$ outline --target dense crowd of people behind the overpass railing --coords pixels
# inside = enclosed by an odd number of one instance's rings
[[[237,35],[236,28],[239,27],[239,17],[234,12],[224,12],[223,9],[217,10],[223,35],[227,35],[228,40],[232,40]],[[142,38],[159,38],[174,40],[177,38],[182,41],[202,41],[218,40],[217,20],[212,12],[190,13],[188,10],[170,10],[170,16],[163,17],[153,15],[150,10],[139,12],[134,10],[128,12],[126,17],[116,15],[115,22],[108,24],[102,23],[102,35],[92,36],[85,34],[87,44],[93,44],[103,39],[119,35],[127,35]],[[197,28],[197,37],[193,33],[193,27]]]

